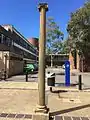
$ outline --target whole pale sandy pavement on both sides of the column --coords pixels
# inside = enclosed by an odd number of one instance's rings
[[[52,116],[90,117],[89,91],[78,91],[76,87],[54,87],[52,93],[46,89],[45,101]],[[38,84],[36,82],[0,82],[0,113],[2,116],[7,114],[7,120],[13,119],[8,117],[10,114],[17,116],[17,120],[22,119],[20,116],[23,116],[23,120],[29,119],[24,116],[32,115],[37,104]],[[0,120],[6,120],[2,116]]]

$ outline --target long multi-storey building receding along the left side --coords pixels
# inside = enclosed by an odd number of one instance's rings
[[[0,26],[0,71],[7,77],[23,72],[25,63],[36,62],[38,50],[12,25]]]

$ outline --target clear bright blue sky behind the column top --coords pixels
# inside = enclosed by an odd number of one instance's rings
[[[86,0],[0,0],[0,24],[12,24],[26,38],[39,37],[38,4],[48,3],[47,17],[53,17],[67,38],[70,13],[82,7]]]

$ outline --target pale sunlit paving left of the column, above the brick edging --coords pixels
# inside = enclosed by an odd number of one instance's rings
[[[32,113],[36,105],[37,91],[0,90],[0,112]]]

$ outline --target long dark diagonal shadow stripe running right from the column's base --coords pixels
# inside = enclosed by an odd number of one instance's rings
[[[60,110],[60,111],[51,112],[51,113],[50,113],[50,116],[55,116],[55,115],[59,115],[59,114],[64,114],[64,113],[68,113],[68,112],[80,110],[80,109],[87,108],[87,107],[90,107],[90,104],[86,104],[86,105],[82,105],[82,106],[78,106],[78,107],[73,107],[73,108],[69,108],[69,109],[65,109],[65,110]]]

